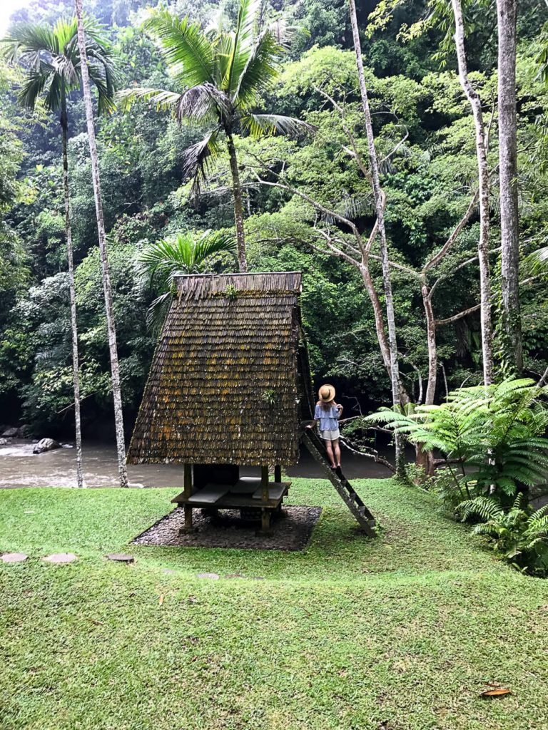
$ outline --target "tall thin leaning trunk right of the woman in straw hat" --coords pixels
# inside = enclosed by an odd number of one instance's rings
[[[359,42],[358,21],[356,15],[356,3],[349,0],[350,22],[352,35],[354,37],[354,50],[356,52],[356,65],[358,69],[359,91],[362,96],[363,115],[365,120],[365,133],[368,137],[369,164],[371,168],[371,181],[373,183],[373,196],[377,213],[378,234],[381,247],[381,264],[384,282],[384,299],[387,307],[387,328],[388,346],[390,355],[390,380],[392,381],[392,404],[400,405],[400,367],[397,358],[396,325],[394,316],[394,299],[392,297],[392,281],[390,279],[390,265],[388,259],[387,234],[384,228],[384,204],[381,183],[378,177],[378,162],[375,150],[375,138],[373,137],[373,125],[369,110],[368,90],[365,86],[365,74],[363,71],[362,46]],[[399,434],[395,436],[395,458],[397,474],[400,475],[403,469],[403,447]]]

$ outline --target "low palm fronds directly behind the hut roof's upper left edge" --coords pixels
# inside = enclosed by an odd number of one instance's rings
[[[146,285],[159,292],[147,314],[148,326],[153,331],[161,329],[170,309],[176,293],[175,277],[210,271],[220,253],[235,254],[235,242],[232,237],[214,231],[205,231],[197,238],[187,231],[142,250],[138,273]]]

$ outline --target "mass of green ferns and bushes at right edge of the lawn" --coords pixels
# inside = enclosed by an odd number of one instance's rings
[[[367,422],[383,423],[425,450],[441,454],[444,469],[427,480],[463,521],[479,521],[498,556],[532,575],[548,573],[548,506],[533,512],[531,493],[547,481],[547,388],[533,380],[505,380],[460,388],[441,405],[383,409]]]

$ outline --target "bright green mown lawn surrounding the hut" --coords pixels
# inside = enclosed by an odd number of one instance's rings
[[[548,582],[430,495],[355,484],[382,537],[294,480],[324,506],[302,553],[130,548],[179,489],[1,490],[0,551],[31,556],[0,564],[1,730],[545,730]]]

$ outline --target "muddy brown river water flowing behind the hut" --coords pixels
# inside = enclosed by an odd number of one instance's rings
[[[0,488],[17,487],[75,487],[75,448],[33,454],[33,443],[14,439],[0,446]],[[390,450],[382,456],[392,459]],[[381,464],[367,457],[354,456],[343,448],[341,462],[349,479],[384,479],[391,474]],[[87,487],[117,487],[116,450],[112,444],[87,442],[83,446],[84,480]],[[243,467],[243,476],[259,476],[259,469]],[[297,466],[286,469],[289,477],[324,478],[324,473],[305,450]],[[143,487],[182,486],[183,467],[179,464],[140,464],[128,466],[129,485]]]

